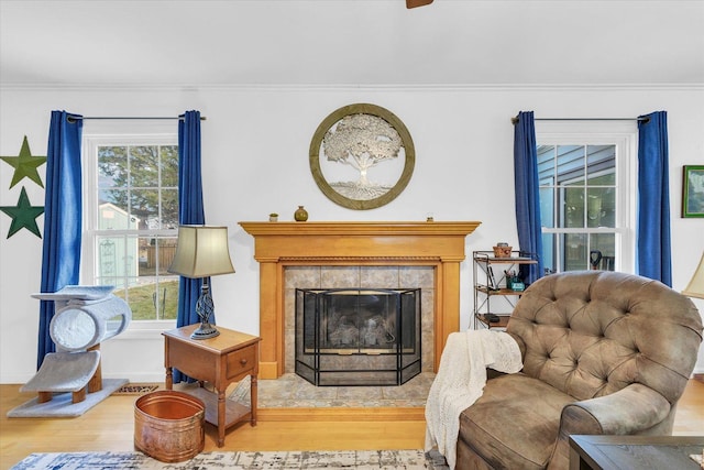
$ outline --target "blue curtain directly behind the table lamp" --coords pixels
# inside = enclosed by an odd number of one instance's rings
[[[200,112],[186,111],[178,120],[178,223],[204,225],[202,181],[200,175]],[[200,323],[196,314],[196,302],[200,296],[202,280],[180,277],[178,291],[178,316],[176,326]],[[210,317],[216,323],[215,314]],[[189,381],[180,371],[174,370],[174,383]]]

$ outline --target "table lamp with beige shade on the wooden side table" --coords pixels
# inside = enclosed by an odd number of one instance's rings
[[[208,278],[218,274],[234,273],[228,248],[228,228],[212,226],[179,226],[178,244],[169,273],[184,277],[202,278],[196,314],[200,326],[191,334],[193,339],[207,339],[220,335],[211,324],[215,310]]]

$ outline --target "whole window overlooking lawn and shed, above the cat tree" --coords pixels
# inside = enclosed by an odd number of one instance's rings
[[[178,276],[168,273],[178,236],[176,135],[88,138],[84,265],[114,285],[132,319],[174,320]]]

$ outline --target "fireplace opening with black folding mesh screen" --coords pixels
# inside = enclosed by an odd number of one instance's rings
[[[421,371],[420,305],[420,288],[296,288],[296,374],[317,386],[408,382]]]

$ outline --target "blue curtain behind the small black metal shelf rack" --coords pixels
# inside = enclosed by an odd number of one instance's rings
[[[524,264],[520,272],[526,285],[542,276],[542,233],[538,149],[532,111],[521,111],[514,128],[514,181],[516,186],[516,226],[520,251],[535,253],[538,264]]]

